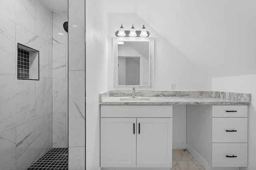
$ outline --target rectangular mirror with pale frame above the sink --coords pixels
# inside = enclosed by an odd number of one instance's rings
[[[114,89],[153,89],[154,38],[114,37]]]

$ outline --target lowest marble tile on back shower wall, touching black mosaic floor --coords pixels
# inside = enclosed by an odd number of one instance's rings
[[[66,113],[52,115],[52,147],[66,147]]]

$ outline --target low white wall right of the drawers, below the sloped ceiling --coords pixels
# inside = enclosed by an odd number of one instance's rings
[[[256,74],[213,78],[212,90],[252,94],[251,104],[248,106],[248,168],[256,169]]]

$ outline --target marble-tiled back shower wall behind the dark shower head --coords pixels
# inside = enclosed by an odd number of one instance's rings
[[[53,117],[52,146],[68,147],[68,33],[63,23],[68,12],[52,13]]]

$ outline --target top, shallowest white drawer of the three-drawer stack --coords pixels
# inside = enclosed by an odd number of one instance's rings
[[[248,106],[212,106],[212,117],[247,117],[248,116]]]

